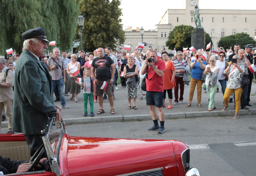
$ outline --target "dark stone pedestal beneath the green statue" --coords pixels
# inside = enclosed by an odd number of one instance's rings
[[[205,32],[203,28],[194,28],[191,33],[191,46],[205,50]]]

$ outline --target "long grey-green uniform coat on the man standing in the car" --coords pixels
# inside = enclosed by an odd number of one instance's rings
[[[56,112],[47,68],[27,49],[15,66],[12,129],[24,134],[41,134]]]

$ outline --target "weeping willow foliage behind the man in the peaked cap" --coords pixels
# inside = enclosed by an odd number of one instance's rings
[[[5,50],[9,48],[21,53],[21,34],[37,27],[44,28],[47,39],[55,40],[60,50],[70,50],[76,33],[78,12],[77,0],[2,0],[0,55],[6,55]]]

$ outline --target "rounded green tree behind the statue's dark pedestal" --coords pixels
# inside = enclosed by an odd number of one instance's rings
[[[183,47],[191,46],[191,33],[194,27],[188,25],[175,26],[173,31],[169,33],[168,40],[166,41],[166,46],[169,49],[176,48],[176,50],[183,51]],[[212,39],[208,33],[205,32],[205,43],[212,43]],[[199,49],[199,48],[196,48]]]

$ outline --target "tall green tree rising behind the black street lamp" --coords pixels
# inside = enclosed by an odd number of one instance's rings
[[[122,29],[119,0],[81,0],[80,12],[84,19],[83,49],[93,51],[107,46],[117,47],[117,38],[124,43],[125,36]],[[77,28],[78,30],[78,28]],[[80,40],[77,38],[77,40]],[[81,47],[80,47],[81,48]]]

